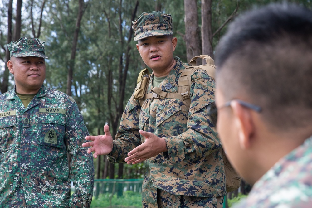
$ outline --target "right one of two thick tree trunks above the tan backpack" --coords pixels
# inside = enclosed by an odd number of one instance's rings
[[[211,2],[212,0],[202,0],[202,54],[213,58],[212,31],[211,31]],[[202,60],[202,64],[206,64]]]

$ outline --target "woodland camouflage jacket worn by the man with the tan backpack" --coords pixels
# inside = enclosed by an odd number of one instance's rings
[[[165,92],[178,91],[179,76],[187,66],[178,57],[175,60],[177,64],[159,86]],[[226,194],[221,143],[208,116],[214,101],[214,82],[204,70],[197,70],[191,78],[190,109],[180,99],[169,98],[147,99],[141,108],[132,96],[124,110],[108,156],[110,162],[124,162],[127,153],[144,142],[139,129],[163,137],[167,143],[168,152],[145,161],[144,207],[157,207],[157,189],[197,197]],[[152,79],[148,93],[151,89]]]

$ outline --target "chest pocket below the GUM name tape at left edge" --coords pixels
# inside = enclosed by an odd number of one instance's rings
[[[16,137],[16,116],[0,117],[0,152],[11,149]]]

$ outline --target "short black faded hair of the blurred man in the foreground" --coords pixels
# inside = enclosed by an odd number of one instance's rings
[[[312,120],[312,11],[270,4],[237,17],[220,40],[217,85],[226,99],[247,97],[273,128]]]

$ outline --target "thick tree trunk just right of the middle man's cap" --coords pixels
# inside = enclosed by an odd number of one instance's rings
[[[186,57],[190,61],[194,56],[198,56],[202,52],[196,0],[184,0],[184,12],[184,41],[186,45]],[[197,65],[200,64],[201,61],[198,60]]]

